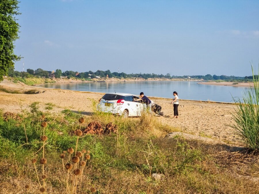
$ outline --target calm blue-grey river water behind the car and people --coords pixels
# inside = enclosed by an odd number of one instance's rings
[[[233,97],[242,97],[249,87],[218,86],[197,84],[195,81],[125,81],[125,82],[82,82],[45,84],[41,87],[89,91],[89,92],[122,92],[146,96],[172,98],[173,92],[179,99],[233,102]]]

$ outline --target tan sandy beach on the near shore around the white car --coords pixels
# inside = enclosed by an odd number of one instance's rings
[[[0,86],[21,92],[35,90],[37,93],[11,94],[0,91],[0,108],[3,112],[12,113],[19,113],[21,112],[21,107],[22,109],[28,109],[29,104],[39,101],[42,107],[44,107],[45,103],[51,102],[56,105],[55,111],[67,108],[73,111],[82,111],[82,114],[87,116],[93,110],[92,101],[98,101],[103,96],[102,93],[46,89],[7,83],[0,83]],[[171,99],[151,99],[162,107],[164,116],[157,116],[162,124],[178,127],[183,132],[193,135],[210,137],[240,145],[240,139],[234,135],[234,129],[226,126],[234,123],[231,118],[231,114],[235,111],[233,104],[180,100],[179,118],[176,119],[173,118],[173,106],[170,105]]]

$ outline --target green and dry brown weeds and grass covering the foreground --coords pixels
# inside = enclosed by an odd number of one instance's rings
[[[83,118],[80,112],[58,112],[56,105],[39,102],[29,105],[30,111],[21,108],[16,116],[1,113],[1,190],[4,193],[259,192],[259,161],[255,152],[229,152],[224,145],[207,145],[179,136],[169,139],[166,135],[179,129],[161,124],[154,116],[143,113],[140,118],[122,118],[97,112],[95,107],[93,101],[92,114]],[[85,133],[93,121],[103,128],[112,123],[116,130]],[[152,173],[164,174],[164,178],[153,180]]]

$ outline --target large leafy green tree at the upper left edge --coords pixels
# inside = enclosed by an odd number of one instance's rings
[[[21,58],[14,54],[14,41],[19,38],[20,27],[15,18],[20,14],[18,3],[17,0],[0,0],[0,81]]]

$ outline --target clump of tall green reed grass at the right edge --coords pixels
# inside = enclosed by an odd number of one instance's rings
[[[237,130],[236,134],[242,138],[247,147],[259,150],[259,79],[254,75],[253,66],[252,74],[254,89],[250,86],[250,90],[242,98],[233,98],[237,106],[233,114],[236,123],[229,126]]]

